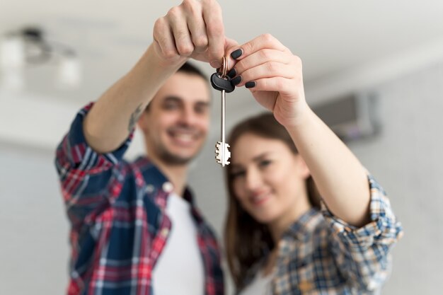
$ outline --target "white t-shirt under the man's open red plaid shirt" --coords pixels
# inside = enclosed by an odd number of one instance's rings
[[[205,270],[190,204],[172,193],[168,197],[166,214],[172,226],[152,272],[154,295],[205,294]]]

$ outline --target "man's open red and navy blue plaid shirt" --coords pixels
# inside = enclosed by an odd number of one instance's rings
[[[71,223],[67,294],[150,295],[152,270],[166,244],[166,177],[147,158],[122,160],[132,135],[119,149],[98,154],[84,138],[81,110],[57,148],[55,164]],[[212,229],[197,211],[197,243],[205,267],[205,294],[224,294],[220,253]],[[186,255],[186,253],[183,253]],[[173,284],[173,282],[171,282]]]

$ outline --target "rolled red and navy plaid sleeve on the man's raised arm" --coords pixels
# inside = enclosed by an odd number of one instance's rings
[[[83,131],[84,117],[93,103],[86,105],[76,115],[69,132],[57,147],[55,166],[59,175],[64,203],[71,225],[76,228],[84,223],[96,209],[109,204],[117,192],[110,190],[110,183],[122,183],[119,171],[122,157],[130,145],[127,140],[115,151],[99,154],[86,143]],[[121,169],[120,169],[121,170]]]

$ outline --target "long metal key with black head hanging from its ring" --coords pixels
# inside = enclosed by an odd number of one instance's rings
[[[231,152],[229,151],[229,144],[226,144],[224,139],[224,120],[226,112],[226,93],[234,91],[235,86],[231,84],[231,78],[227,76],[227,71],[229,69],[227,57],[223,57],[222,67],[217,69],[217,72],[211,76],[212,87],[222,93],[222,125],[221,125],[221,139],[215,145],[215,158],[217,163],[221,164],[222,167],[229,165],[229,157]]]

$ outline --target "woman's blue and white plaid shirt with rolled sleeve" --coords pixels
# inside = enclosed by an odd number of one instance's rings
[[[403,232],[389,199],[369,176],[371,222],[357,229],[333,216],[325,204],[310,209],[278,243],[270,289],[274,295],[378,294],[391,271],[389,250]],[[261,270],[248,273],[251,282]]]

